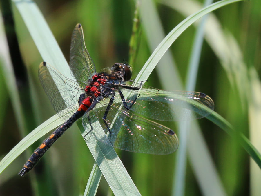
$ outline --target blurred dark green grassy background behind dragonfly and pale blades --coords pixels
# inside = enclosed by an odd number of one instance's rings
[[[56,0],[35,1],[43,13],[61,50],[69,60],[72,31],[77,23],[84,29],[86,48],[95,62],[96,70],[111,67],[115,62],[129,61],[129,41],[132,35],[136,1],[108,0]],[[146,19],[141,19],[140,44],[137,58],[133,61],[135,78],[154,49],[148,34],[160,28],[167,35],[177,24],[202,8],[203,1],[174,0],[154,1],[153,9],[160,21],[146,28]],[[18,46],[9,42],[12,63],[16,70],[17,86],[26,129],[19,131],[15,108],[6,90],[3,72],[0,70],[0,156],[3,158],[25,135],[55,114],[50,101],[38,79],[41,56],[30,37],[16,6],[12,13],[1,12],[6,23],[7,35],[17,35]],[[209,15],[205,39],[200,54],[195,91],[204,92],[215,102],[215,111],[228,120],[236,131],[242,132],[261,151],[261,2],[243,1],[224,6]],[[151,9],[151,8],[147,8]],[[10,15],[11,14],[11,15]],[[213,15],[214,14],[214,15]],[[8,17],[9,16],[9,17]],[[10,16],[14,17],[12,29]],[[15,31],[14,31],[15,30]],[[195,37],[195,26],[189,27],[168,50],[175,59],[176,72],[185,85],[189,59]],[[160,39],[160,37],[159,37]],[[160,39],[161,41],[162,39]],[[159,43],[154,43],[159,44]],[[157,46],[157,45],[156,45]],[[21,61],[19,61],[21,53]],[[15,61],[16,60],[16,61]],[[180,90],[162,79],[158,70],[171,74],[172,65],[157,66],[148,78],[147,85],[166,90]],[[178,86],[178,85],[177,85]],[[36,107],[37,105],[37,107]],[[37,108],[37,109],[36,109]],[[204,140],[191,138],[195,143],[206,144],[208,156],[202,152],[195,158],[188,145],[185,161],[185,178],[177,178],[177,152],[171,155],[147,155],[116,150],[128,173],[142,195],[171,195],[178,182],[184,183],[184,195],[261,195],[261,171],[250,161],[249,155],[238,144],[236,137],[229,136],[207,119],[197,120]],[[164,124],[171,128],[175,125]],[[190,132],[193,132],[191,128]],[[23,134],[25,135],[23,135]],[[192,133],[189,133],[193,135]],[[177,133],[179,137],[180,133]],[[193,136],[191,136],[193,137]],[[44,139],[44,138],[43,138]],[[41,143],[36,142],[27,154],[23,153],[0,175],[0,195],[81,195],[84,193],[94,159],[85,145],[76,125],[67,131],[41,159],[35,172],[46,168],[46,178],[30,180],[29,175],[17,175],[28,155]],[[178,149],[179,150],[179,149]],[[206,164],[206,166],[204,166]],[[203,170],[200,169],[203,166]],[[204,170],[205,168],[205,170]],[[211,170],[209,170],[211,169]],[[175,180],[176,179],[176,180]],[[207,183],[209,182],[209,184]],[[213,188],[215,187],[215,188]],[[219,189],[218,192],[215,190]],[[113,194],[104,178],[97,195]],[[182,194],[183,195],[183,194]]]

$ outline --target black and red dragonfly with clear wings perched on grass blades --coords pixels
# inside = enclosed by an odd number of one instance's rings
[[[98,140],[115,148],[166,155],[175,152],[179,142],[176,133],[160,121],[199,119],[214,110],[213,100],[204,93],[165,91],[144,85],[146,81],[134,82],[128,63],[115,63],[108,70],[96,72],[81,24],[73,30],[69,66],[75,80],[46,62],[39,66],[41,84],[65,122],[33,152],[19,172],[21,176],[32,170],[52,144],[80,118],[88,130],[86,140],[103,129],[108,138]]]

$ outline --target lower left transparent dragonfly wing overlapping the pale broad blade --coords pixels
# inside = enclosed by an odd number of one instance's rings
[[[45,62],[39,66],[39,79],[54,110],[59,117],[68,120],[79,107],[78,99],[84,86],[79,86]]]

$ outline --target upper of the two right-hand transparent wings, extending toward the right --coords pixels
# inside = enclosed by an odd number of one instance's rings
[[[135,84],[139,87],[140,84]],[[185,121],[208,116],[214,110],[214,102],[201,92],[164,91],[143,85],[139,90],[132,90],[132,96],[126,99],[128,88],[134,85],[119,85],[126,104],[131,111],[161,121]],[[135,103],[133,101],[136,99]],[[121,103],[121,97],[115,97]]]

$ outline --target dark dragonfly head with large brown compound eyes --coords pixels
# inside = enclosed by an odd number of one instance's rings
[[[118,77],[124,79],[125,81],[129,81],[132,77],[132,69],[128,63],[115,63],[111,71],[113,74],[118,75]]]

